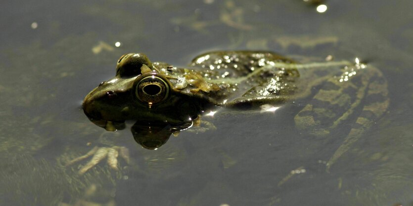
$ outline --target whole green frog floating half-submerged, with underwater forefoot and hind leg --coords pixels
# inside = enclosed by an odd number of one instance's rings
[[[271,51],[212,51],[196,56],[189,66],[151,62],[143,53],[125,54],[117,62],[115,77],[85,97],[84,112],[108,131],[124,129],[126,120],[137,120],[132,127],[135,139],[147,149],[156,149],[213,107],[245,110],[308,100],[292,117],[297,130],[306,134],[333,138],[335,128],[354,119],[326,163],[328,171],[389,106],[386,78],[358,58],[300,63]],[[88,167],[106,155],[116,160],[114,150],[121,148],[89,152],[94,157]],[[116,161],[108,163],[116,169]]]

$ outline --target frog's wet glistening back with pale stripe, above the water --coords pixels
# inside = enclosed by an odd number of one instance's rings
[[[295,64],[269,51],[215,51],[195,57],[191,66],[203,68],[202,76],[220,85],[220,91],[210,95],[225,97],[228,103],[262,104],[262,100],[285,102],[296,88],[298,70],[277,63]]]

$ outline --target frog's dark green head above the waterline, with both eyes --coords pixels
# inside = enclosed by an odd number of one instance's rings
[[[171,109],[182,101],[171,88],[167,76],[153,67],[146,55],[126,54],[118,61],[116,76],[100,83],[85,97],[83,109],[92,120],[112,122],[187,119],[188,109]]]

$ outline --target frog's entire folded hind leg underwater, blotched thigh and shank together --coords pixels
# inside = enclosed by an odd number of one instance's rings
[[[386,79],[378,69],[355,65],[345,69],[343,75],[327,80],[313,100],[294,117],[297,129],[316,137],[327,137],[361,110],[344,143],[328,161],[327,170],[387,110],[387,93]]]

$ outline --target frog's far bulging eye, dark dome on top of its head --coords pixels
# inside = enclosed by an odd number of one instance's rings
[[[141,74],[140,68],[142,65],[152,68],[152,63],[146,55],[142,53],[125,54],[118,60],[116,76],[125,78],[138,76]]]

